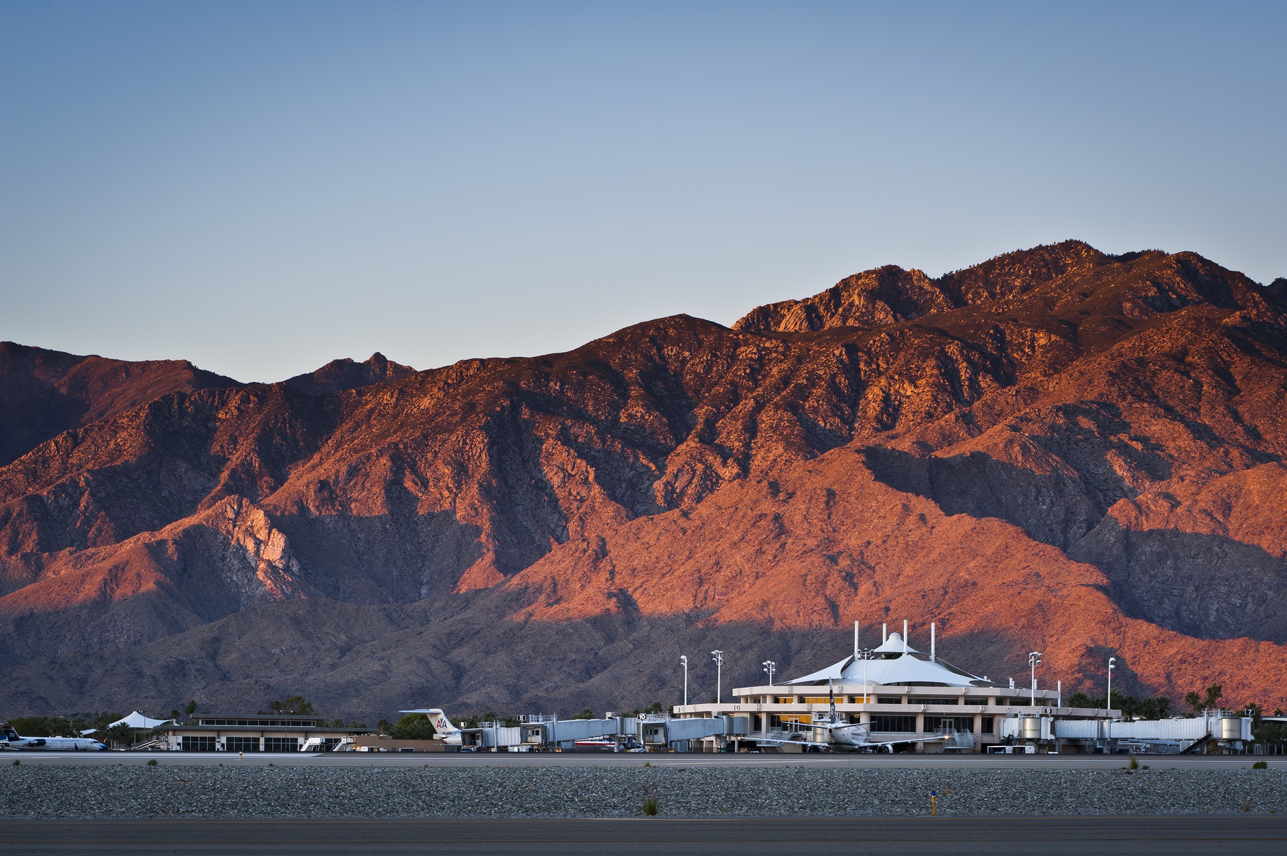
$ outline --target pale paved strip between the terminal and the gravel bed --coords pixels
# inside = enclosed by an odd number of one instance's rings
[[[1248,767],[1268,761],[1272,767],[1287,767],[1287,756],[1261,757],[1250,754],[1142,754],[1140,763],[1157,770]],[[22,763],[98,765],[147,763],[188,766],[266,766],[278,767],[456,767],[456,766],[537,766],[537,767],[654,767],[681,766],[806,766],[840,769],[968,769],[968,770],[1111,770],[1127,763],[1125,754],[839,754],[839,753],[622,753],[610,752],[331,752],[306,754],[299,752],[6,752],[0,763],[10,758]]]

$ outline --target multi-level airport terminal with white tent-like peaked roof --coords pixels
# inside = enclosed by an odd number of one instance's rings
[[[873,743],[889,742],[887,748],[902,752],[986,752],[990,745],[1013,742],[999,726],[1006,717],[1121,718],[1121,711],[1066,707],[1059,690],[1033,691],[1013,681],[970,675],[940,659],[933,644],[924,654],[897,632],[871,652],[857,652],[785,684],[735,688],[732,695],[731,702],[678,706],[674,711],[680,717],[748,717],[749,733],[735,740],[735,748],[788,752],[807,751],[808,740],[825,742],[821,726],[830,724],[833,715],[837,721],[865,726]],[[797,735],[804,743],[780,742]],[[1039,739],[1055,748],[1053,736]],[[705,743],[707,749],[714,749],[725,748],[728,740],[709,738]]]

